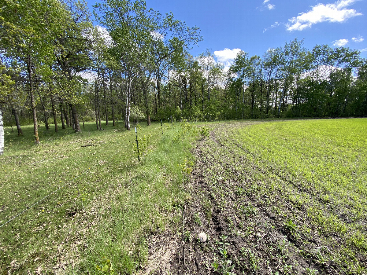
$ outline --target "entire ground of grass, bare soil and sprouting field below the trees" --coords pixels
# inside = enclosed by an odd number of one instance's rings
[[[1,273],[367,273],[366,118],[197,126],[7,128]]]

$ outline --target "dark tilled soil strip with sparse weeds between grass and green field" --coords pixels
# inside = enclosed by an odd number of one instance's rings
[[[218,154],[223,146],[213,131],[193,149],[196,164],[185,186],[189,198],[169,273],[345,274],[330,260],[321,265],[315,260],[321,247],[316,231],[310,237],[286,226],[277,206],[287,201],[280,194],[252,190],[252,175],[240,168],[243,163]],[[287,207],[304,215],[302,209]],[[207,236],[204,243],[198,239],[201,232]]]

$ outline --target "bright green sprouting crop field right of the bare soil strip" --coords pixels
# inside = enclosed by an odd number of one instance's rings
[[[310,241],[320,240],[320,266],[330,260],[348,274],[365,273],[367,119],[233,126],[217,132],[219,151],[210,145],[218,163],[244,172],[252,195],[276,202],[272,209],[308,255],[317,248]]]

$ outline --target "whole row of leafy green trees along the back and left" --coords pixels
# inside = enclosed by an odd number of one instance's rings
[[[0,10],[0,122],[81,131],[81,122],[225,120],[367,115],[360,52],[295,38],[260,56],[240,51],[225,68],[189,51],[200,29],[145,1],[7,0]],[[1,124],[1,123],[0,123]],[[0,131],[1,132],[1,131]],[[3,133],[2,133],[3,135]],[[1,137],[0,137],[1,139]]]

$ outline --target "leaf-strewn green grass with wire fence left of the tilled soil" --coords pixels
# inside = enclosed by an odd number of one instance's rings
[[[180,220],[185,194],[178,165],[190,158],[197,132],[172,143],[179,126],[163,135],[160,124],[142,126],[138,135],[152,135],[151,152],[138,163],[135,133],[123,124],[97,131],[90,122],[78,134],[41,127],[41,146],[33,145],[32,128],[23,126],[22,137],[5,130],[0,224],[55,193],[1,227],[0,274],[98,274],[103,256],[121,274],[139,270],[146,238]]]

